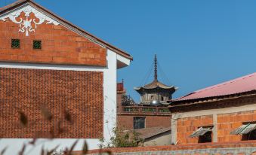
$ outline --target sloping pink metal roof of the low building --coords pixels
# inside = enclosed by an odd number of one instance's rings
[[[256,72],[253,74],[248,74],[242,78],[236,78],[232,81],[227,81],[222,84],[217,84],[202,90],[197,90],[188,94],[187,96],[174,99],[173,101],[200,99],[214,96],[226,96],[236,93],[244,93],[251,90],[256,90]]]

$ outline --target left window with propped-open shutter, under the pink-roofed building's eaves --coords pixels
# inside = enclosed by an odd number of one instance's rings
[[[208,143],[211,142],[211,129],[213,126],[200,127],[193,134],[190,135],[190,138],[198,137],[199,143]]]

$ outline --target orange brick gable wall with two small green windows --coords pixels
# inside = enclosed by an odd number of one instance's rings
[[[24,14],[20,17],[26,19]],[[33,18],[32,13],[29,19]],[[106,48],[63,26],[46,24],[45,21],[35,32],[29,32],[28,37],[18,32],[19,29],[19,24],[0,20],[0,61],[106,66]],[[20,39],[20,49],[11,49],[12,38]],[[42,50],[32,49],[33,40],[42,41]]]

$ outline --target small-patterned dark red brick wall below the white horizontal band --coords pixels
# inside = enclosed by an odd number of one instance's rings
[[[0,68],[0,105],[0,138],[101,138],[103,72]]]

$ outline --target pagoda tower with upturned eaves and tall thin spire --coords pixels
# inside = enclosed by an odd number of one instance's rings
[[[167,101],[177,90],[177,87],[167,86],[158,80],[157,74],[157,57],[154,59],[154,80],[143,87],[134,87],[137,93],[140,93],[140,105],[168,105]]]

